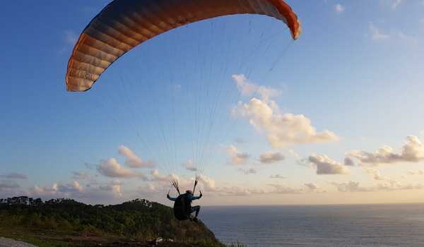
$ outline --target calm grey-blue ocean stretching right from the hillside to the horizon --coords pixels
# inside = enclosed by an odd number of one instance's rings
[[[424,246],[424,204],[203,207],[201,219],[249,247]]]

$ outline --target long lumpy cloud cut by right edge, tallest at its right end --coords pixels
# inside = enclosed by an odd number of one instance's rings
[[[400,153],[394,152],[389,146],[380,147],[376,152],[353,150],[347,157],[358,159],[361,164],[393,164],[398,162],[424,161],[424,144],[415,135],[408,135],[406,144]]]

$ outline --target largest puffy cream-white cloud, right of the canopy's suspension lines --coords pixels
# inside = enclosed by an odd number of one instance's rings
[[[272,147],[338,140],[338,136],[331,131],[317,133],[310,119],[302,114],[282,114],[272,101],[267,103],[253,98],[248,104],[239,102],[234,112],[249,119],[249,123],[258,131],[263,131]]]

